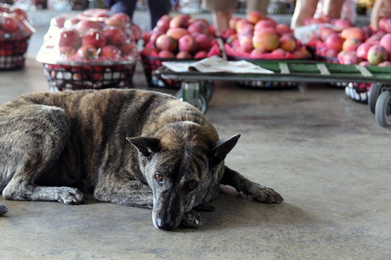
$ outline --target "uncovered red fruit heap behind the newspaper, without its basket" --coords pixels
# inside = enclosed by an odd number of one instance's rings
[[[152,31],[143,36],[141,54],[161,59],[204,59],[220,55],[213,28],[204,19],[188,15],[162,16]]]

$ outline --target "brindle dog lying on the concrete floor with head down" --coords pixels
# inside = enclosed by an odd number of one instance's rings
[[[66,204],[93,192],[152,208],[159,229],[196,227],[193,208],[215,199],[219,184],[263,203],[283,200],[224,166],[239,136],[219,140],[194,106],[152,91],[24,95],[0,106],[0,191],[6,200]],[[6,211],[0,204],[0,215]]]

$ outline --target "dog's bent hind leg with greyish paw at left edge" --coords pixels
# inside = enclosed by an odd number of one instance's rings
[[[0,177],[6,183],[2,196],[7,200],[84,202],[78,189],[34,184],[65,147],[69,133],[65,111],[45,105],[26,105],[9,113],[5,109],[0,111]]]

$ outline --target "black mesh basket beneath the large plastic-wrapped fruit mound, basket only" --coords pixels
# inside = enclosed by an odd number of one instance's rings
[[[113,64],[48,64],[43,73],[50,91],[131,88],[136,62]]]

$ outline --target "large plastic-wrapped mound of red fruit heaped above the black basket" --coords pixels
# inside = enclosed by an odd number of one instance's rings
[[[76,17],[60,15],[50,21],[37,60],[44,63],[112,64],[135,61],[140,28],[125,13],[87,9]]]

